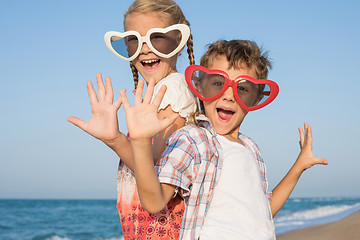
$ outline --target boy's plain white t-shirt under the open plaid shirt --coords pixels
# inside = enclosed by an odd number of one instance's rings
[[[224,155],[200,240],[275,239],[269,201],[254,153],[242,144],[216,136]]]

